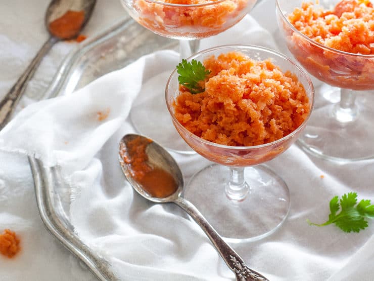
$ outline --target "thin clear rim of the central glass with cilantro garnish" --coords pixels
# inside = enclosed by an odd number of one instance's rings
[[[220,49],[225,49],[225,48],[237,48],[238,51],[240,50],[243,50],[243,49],[247,49],[247,50],[260,50],[260,51],[265,51],[265,52],[268,52],[269,54],[272,54],[272,55],[275,55],[275,56],[278,56],[280,58],[283,58],[287,61],[289,61],[293,66],[295,66],[296,68],[299,69],[299,71],[305,75],[305,77],[307,78],[307,81],[308,81],[308,86],[311,90],[311,105],[310,105],[310,111],[309,111],[309,115],[305,118],[304,122],[295,130],[293,131],[292,133],[288,134],[287,136],[284,136],[283,138],[280,138],[276,141],[273,141],[273,142],[269,142],[269,143],[265,143],[265,144],[260,144],[260,145],[253,145],[253,146],[229,146],[229,145],[223,145],[223,144],[218,144],[218,143],[215,143],[215,142],[211,142],[211,141],[207,141],[203,138],[200,138],[198,136],[196,136],[195,134],[191,133],[189,130],[185,129],[184,126],[182,126],[179,121],[175,118],[175,115],[174,113],[172,112],[172,109],[171,109],[171,105],[167,102],[167,92],[168,92],[168,86],[170,84],[170,81],[172,79],[172,77],[176,74],[176,69],[173,70],[173,72],[171,73],[167,83],[166,83],[166,89],[165,89],[165,100],[166,100],[166,105],[167,105],[167,109],[169,110],[170,112],[170,115],[171,115],[171,118],[173,119],[174,122],[176,122],[177,124],[180,125],[180,128],[181,130],[187,134],[187,135],[190,135],[192,138],[204,143],[204,144],[207,144],[207,145],[211,145],[211,146],[215,146],[217,148],[223,148],[223,149],[234,149],[234,150],[249,150],[249,149],[260,149],[260,148],[264,148],[264,147],[268,147],[268,146],[273,146],[275,144],[278,144],[278,143],[282,143],[283,141],[289,139],[289,138],[292,138],[294,135],[296,135],[300,130],[302,130],[304,127],[305,127],[305,124],[307,123],[312,111],[313,111],[313,108],[314,108],[314,87],[313,87],[313,83],[309,77],[309,75],[307,74],[307,72],[301,67],[299,66],[298,64],[296,64],[295,62],[293,62],[290,58],[288,58],[287,56],[279,53],[279,52],[276,52],[274,50],[271,50],[271,49],[268,49],[268,48],[264,48],[264,47],[260,47],[260,46],[255,46],[255,45],[223,45],[223,46],[217,46],[217,47],[213,47],[213,48],[209,48],[209,49],[206,49],[206,50],[203,50],[203,51],[200,51],[198,53],[196,53],[195,55],[189,57],[187,59],[187,61],[191,61],[192,59],[195,59],[196,57],[202,55],[202,54],[205,54],[205,53],[209,53],[211,51],[216,51],[216,50],[220,50]],[[304,85],[303,85],[304,86]],[[305,87],[305,86],[304,86]]]

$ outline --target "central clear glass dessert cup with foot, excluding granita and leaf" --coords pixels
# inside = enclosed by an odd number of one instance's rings
[[[203,61],[211,55],[239,51],[254,60],[271,58],[282,71],[290,70],[304,86],[313,106],[314,89],[307,73],[282,54],[256,46],[221,46],[190,57]],[[304,129],[305,121],[289,135],[256,146],[227,146],[204,140],[184,128],[174,115],[179,95],[178,74],[166,86],[166,104],[172,122],[186,143],[214,162],[196,173],[184,196],[191,200],[228,242],[248,242],[274,232],[285,221],[290,208],[287,184],[263,164],[286,151]],[[310,114],[310,113],[309,113]]]

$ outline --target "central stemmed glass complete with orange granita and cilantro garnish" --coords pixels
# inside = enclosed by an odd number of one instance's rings
[[[191,178],[183,196],[231,242],[273,233],[287,217],[290,192],[261,164],[285,152],[307,124],[314,88],[306,71],[266,48],[218,46],[182,60],[165,99],[180,136],[215,163]]]

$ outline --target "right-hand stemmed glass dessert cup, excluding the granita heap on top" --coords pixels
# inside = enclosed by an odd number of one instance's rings
[[[305,151],[336,162],[373,158],[374,106],[369,91],[374,90],[374,55],[338,51],[299,32],[287,15],[302,2],[277,0],[279,29],[290,52],[310,74],[340,88],[340,101],[316,106],[298,143]],[[319,5],[331,9],[338,2],[326,0]]]

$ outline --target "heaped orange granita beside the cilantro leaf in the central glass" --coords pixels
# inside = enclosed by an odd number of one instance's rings
[[[269,143],[293,132],[309,114],[303,85],[270,59],[229,52],[203,64],[211,71],[205,92],[191,94],[180,86],[173,106],[180,124],[205,140],[229,146]]]

